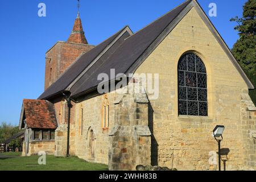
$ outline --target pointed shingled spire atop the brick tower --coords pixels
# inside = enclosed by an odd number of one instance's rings
[[[88,42],[85,38],[85,35],[84,35],[84,31],[82,30],[82,21],[80,19],[79,7],[80,7],[80,4],[78,4],[77,18],[75,20],[73,30],[72,30],[71,35],[69,36],[67,42],[88,44]]]

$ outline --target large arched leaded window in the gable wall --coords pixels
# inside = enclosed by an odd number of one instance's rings
[[[178,86],[179,115],[207,116],[207,71],[194,53],[180,57]]]

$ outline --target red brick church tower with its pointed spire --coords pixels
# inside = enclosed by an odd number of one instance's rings
[[[59,41],[46,52],[44,90],[51,86],[78,57],[90,51],[93,47],[88,44],[85,38],[78,11],[73,30],[67,42]]]

